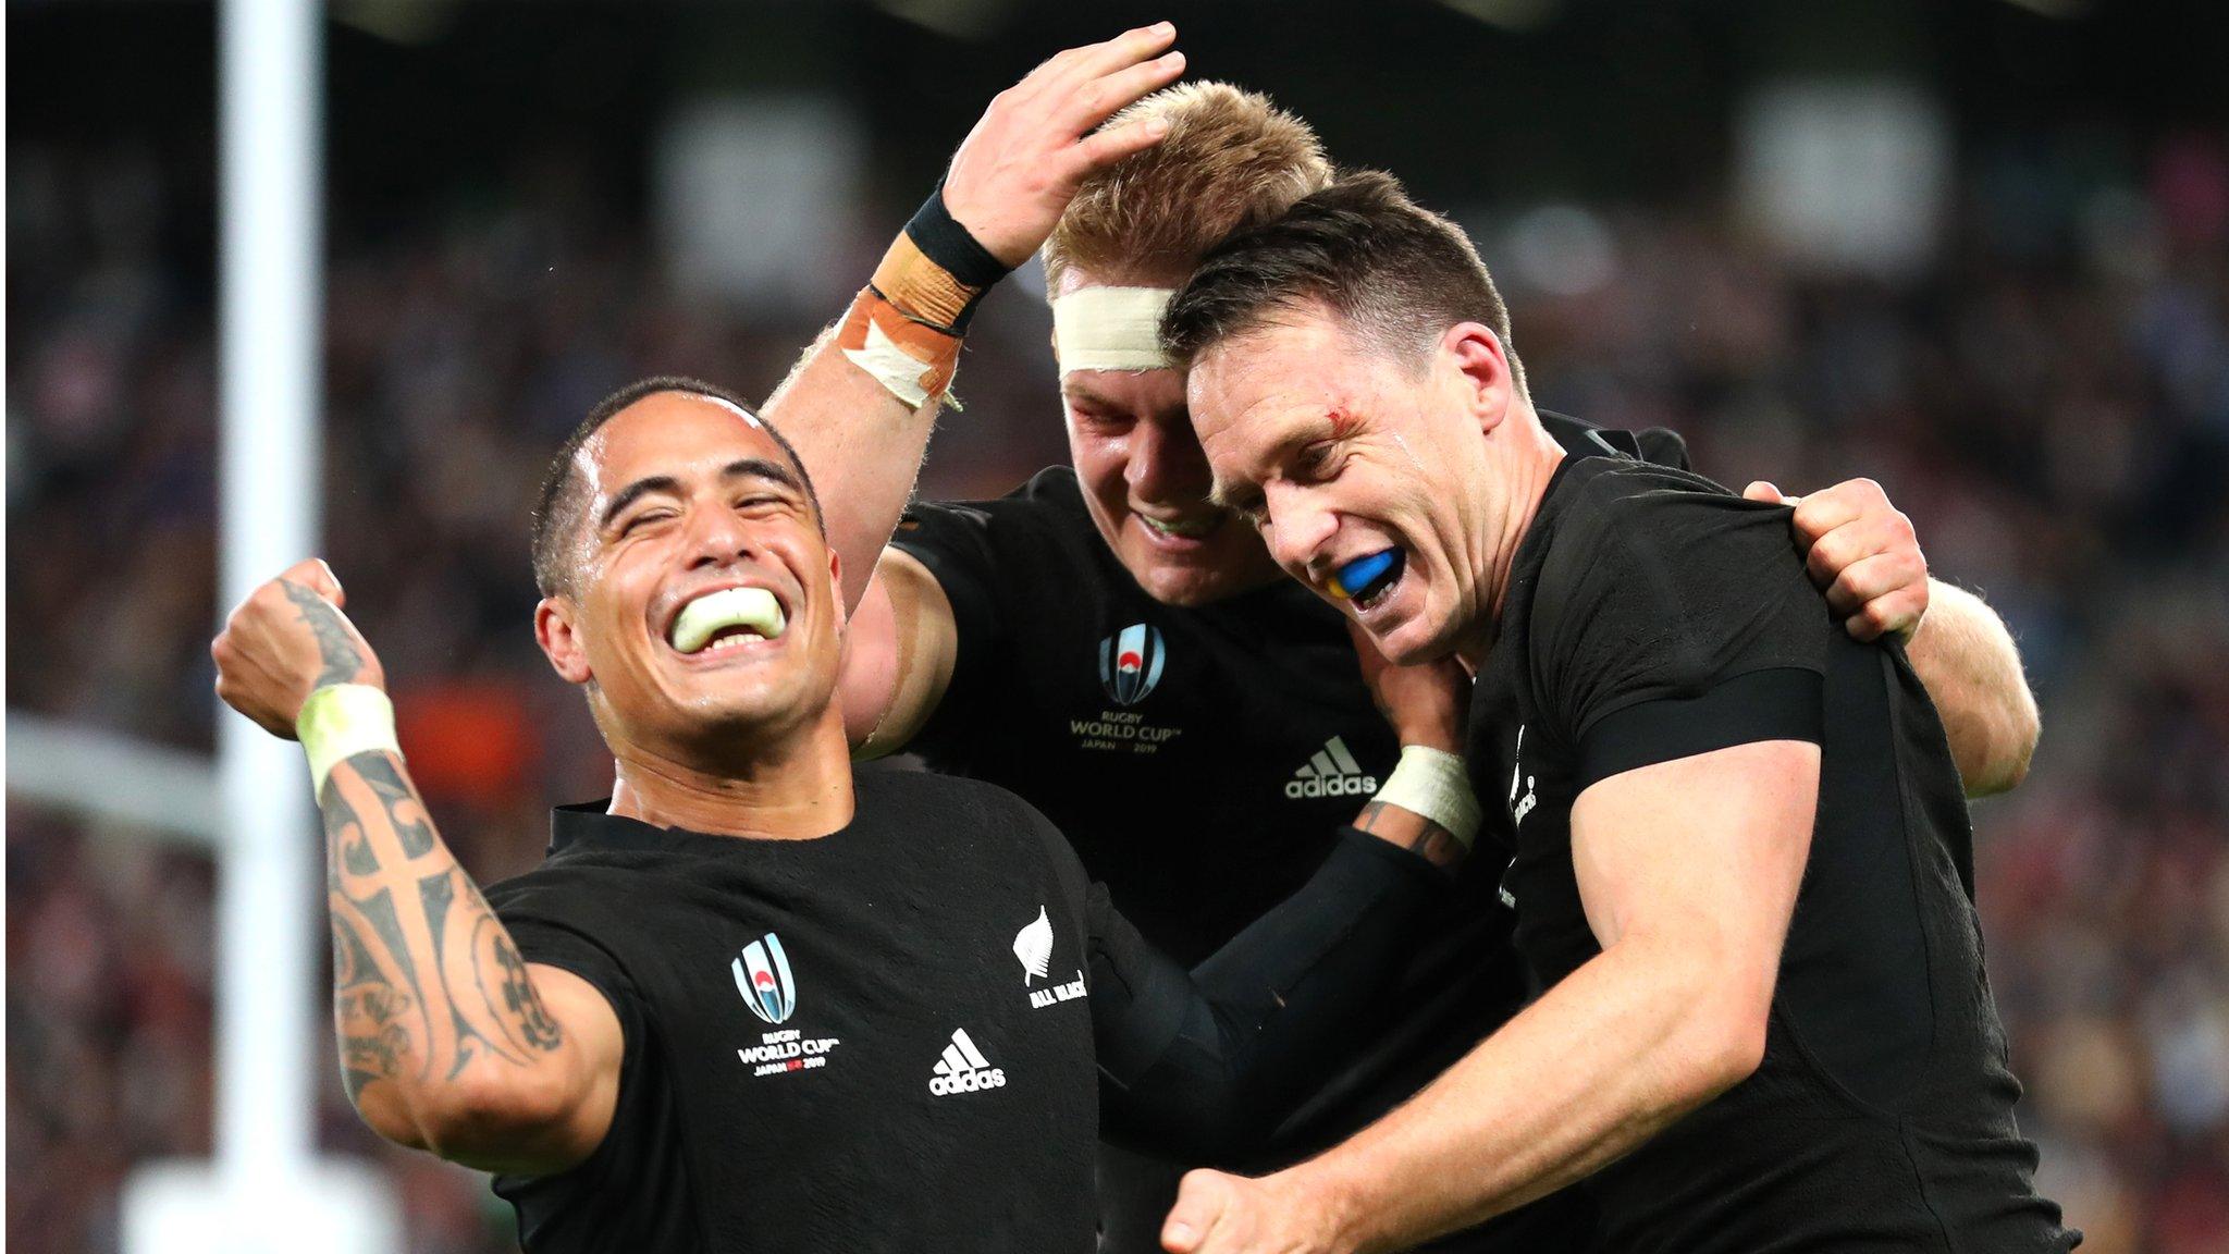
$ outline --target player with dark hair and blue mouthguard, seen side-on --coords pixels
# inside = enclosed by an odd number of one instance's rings
[[[1605,1250],[2069,1250],[1895,638],[1788,511],[1536,415],[1453,223],[1351,174],[1213,250],[1168,350],[1215,498],[1398,663],[1478,674],[1545,993],[1371,1129],[1184,1183],[1179,1254],[1400,1250],[1587,1178]]]

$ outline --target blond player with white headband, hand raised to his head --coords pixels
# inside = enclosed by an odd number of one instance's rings
[[[1400,745],[1378,730],[1337,611],[1208,504],[1184,373],[1137,312],[1228,230],[1331,181],[1308,127],[1255,94],[1190,83],[1114,114],[1181,71],[1172,38],[1164,25],[1063,51],[1001,94],[769,413],[816,478],[845,484],[829,524],[845,596],[863,596],[843,678],[854,745],[1025,794],[1155,944],[1197,959],[1300,886],[1324,852],[1315,828],[1378,788]],[[867,544],[905,504],[967,310],[1039,245],[1074,466],[1003,500],[916,504],[878,556]],[[1545,422],[1574,446],[1685,464],[1672,433]],[[1812,493],[1792,522],[1852,631],[1917,629],[1912,658],[1968,788],[2008,788],[2035,710],[1995,616],[1957,589],[1930,596],[1910,524],[1875,484]],[[1161,819],[1179,810],[1210,821],[1172,830]],[[1438,944],[1389,975],[1386,1013],[1353,1024],[1344,1073],[1246,1163],[1355,1131],[1522,1004],[1496,875],[1464,877],[1431,922]],[[1179,1176],[1110,1149],[1106,1247],[1157,1247]],[[1540,1218],[1509,1241],[1569,1247],[1589,1223]]]

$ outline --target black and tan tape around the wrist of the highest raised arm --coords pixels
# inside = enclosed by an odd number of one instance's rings
[[[836,346],[883,390],[921,408],[952,386],[967,321],[1005,274],[1008,266],[945,210],[938,183],[851,301]]]

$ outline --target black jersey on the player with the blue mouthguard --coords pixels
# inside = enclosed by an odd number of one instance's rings
[[[1542,986],[1600,948],[1571,801],[1739,743],[1821,745],[1763,1064],[1596,1174],[1605,1250],[2069,1250],[1982,971],[1957,768],[1901,645],[1843,631],[1788,509],[1625,457],[1565,460],[1509,573],[1471,772],[1516,832]]]

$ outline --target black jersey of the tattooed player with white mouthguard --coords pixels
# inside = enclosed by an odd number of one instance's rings
[[[488,888],[624,1033],[595,1154],[495,1180],[531,1254],[1083,1254],[1101,1100],[1186,1145],[1271,1116],[1444,890],[1349,832],[1188,975],[1021,799],[869,768],[856,801],[805,841],[559,810],[548,859]]]

